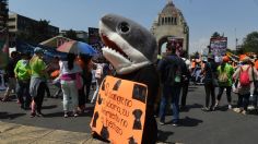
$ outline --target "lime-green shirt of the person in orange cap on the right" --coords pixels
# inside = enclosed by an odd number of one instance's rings
[[[232,86],[232,84],[233,84],[234,68],[231,64],[226,63],[225,68],[223,70],[221,70],[221,65],[219,65],[216,71],[218,71],[218,75],[220,75],[223,72],[225,72],[226,75],[227,75],[227,79],[228,79],[226,83],[220,83],[219,82],[219,85],[220,86]]]

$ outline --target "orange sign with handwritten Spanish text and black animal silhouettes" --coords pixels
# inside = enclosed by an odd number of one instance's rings
[[[98,91],[92,131],[114,144],[141,144],[146,96],[144,84],[106,76]]]

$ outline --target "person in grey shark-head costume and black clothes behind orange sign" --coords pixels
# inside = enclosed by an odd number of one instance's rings
[[[102,49],[103,55],[115,68],[115,76],[148,86],[142,144],[154,144],[157,137],[154,100],[160,86],[153,64],[156,60],[156,40],[146,28],[115,14],[101,19],[99,35],[106,46]]]

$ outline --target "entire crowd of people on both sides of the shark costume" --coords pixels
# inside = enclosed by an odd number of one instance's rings
[[[206,92],[203,111],[219,109],[224,91],[228,109],[243,115],[248,113],[250,105],[257,109],[258,68],[254,64],[256,60],[246,56],[235,64],[230,57],[224,56],[221,62],[215,62],[214,56],[209,55],[207,61],[199,61],[200,67],[194,68],[192,62],[196,60],[188,60],[185,53],[178,56],[176,49],[168,46],[166,53],[156,63],[161,86],[154,111],[160,124],[166,124],[165,116],[169,105],[173,109],[173,125],[179,123],[179,112],[187,107],[188,86],[190,82],[200,80]],[[51,96],[48,88],[48,82],[51,80],[52,85],[57,87],[52,97],[62,97],[63,100],[63,117],[78,117],[85,110],[86,103],[96,101],[103,79],[114,74],[113,72],[104,58],[93,61],[89,56],[68,53],[63,60],[55,57],[46,62],[40,48],[35,48],[33,57],[14,51],[7,67],[8,88],[1,100],[7,101],[11,91],[15,89],[21,108],[31,109],[31,117],[42,117],[45,92],[48,97]],[[90,99],[93,82],[95,92]],[[236,106],[232,103],[232,92],[238,95]]]

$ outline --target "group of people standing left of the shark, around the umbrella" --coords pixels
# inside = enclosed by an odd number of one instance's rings
[[[86,55],[68,53],[45,59],[42,48],[34,55],[12,51],[5,68],[7,89],[1,101],[9,101],[14,92],[17,104],[31,110],[31,117],[44,117],[42,107],[45,94],[49,98],[62,97],[63,117],[78,117],[85,111],[86,103],[94,104],[102,80],[112,68],[104,58],[94,59]],[[51,94],[49,85],[56,86]],[[95,86],[95,88],[93,88]],[[90,99],[90,92],[95,91]]]

